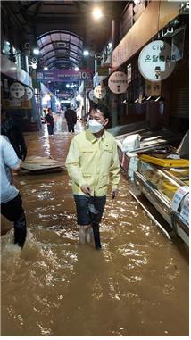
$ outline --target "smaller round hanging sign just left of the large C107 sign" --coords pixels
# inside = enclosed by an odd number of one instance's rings
[[[121,94],[128,88],[127,74],[124,72],[114,72],[108,80],[108,86],[114,94]]]

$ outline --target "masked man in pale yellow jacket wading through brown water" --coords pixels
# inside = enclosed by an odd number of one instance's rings
[[[90,241],[93,228],[95,249],[101,249],[99,224],[104,212],[109,181],[112,198],[117,195],[120,163],[115,138],[104,131],[109,112],[103,104],[95,104],[88,117],[87,129],[73,137],[66,158],[72,179],[72,192],[79,224],[79,243]]]

